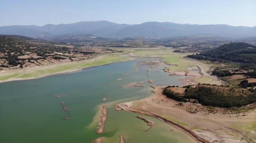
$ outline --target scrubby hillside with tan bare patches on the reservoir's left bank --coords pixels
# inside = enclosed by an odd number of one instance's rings
[[[99,54],[113,52],[122,51],[108,48],[77,48],[56,41],[38,40],[20,35],[4,35],[0,36],[0,70],[15,66],[23,68],[64,61],[91,59]]]

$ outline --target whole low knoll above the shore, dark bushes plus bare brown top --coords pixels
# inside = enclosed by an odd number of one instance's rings
[[[242,107],[256,102],[256,93],[239,87],[217,85],[167,86],[163,94],[178,102],[200,103],[205,106],[221,108]]]

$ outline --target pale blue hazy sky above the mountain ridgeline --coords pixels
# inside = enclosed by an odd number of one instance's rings
[[[0,26],[108,20],[256,26],[256,0],[0,0]]]

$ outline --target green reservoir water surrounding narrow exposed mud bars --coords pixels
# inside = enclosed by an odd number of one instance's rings
[[[90,143],[93,139],[105,137],[104,143],[117,143],[120,134],[124,134],[126,143],[191,141],[183,132],[174,129],[170,133],[172,126],[150,117],[147,118],[156,122],[156,125],[145,132],[148,126],[135,118],[136,113],[114,111],[116,103],[151,95],[150,85],[181,85],[177,79],[184,78],[155,72],[163,69],[164,65],[152,69],[150,76],[146,73],[148,66],[141,66],[138,72],[133,73],[137,62],[126,61],[74,73],[0,83],[0,142]],[[126,72],[129,73],[128,76]],[[118,78],[122,80],[117,81]],[[148,79],[155,83],[147,83]],[[118,87],[140,81],[144,82],[145,87]],[[109,82],[113,83],[106,84]],[[61,97],[51,96],[52,94]],[[104,97],[107,100],[102,102]],[[70,113],[68,120],[62,119],[66,112],[63,111],[61,102],[65,102]],[[108,108],[104,134],[95,134],[98,126],[95,115],[103,103]]]

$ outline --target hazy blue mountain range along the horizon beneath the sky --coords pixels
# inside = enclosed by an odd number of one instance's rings
[[[105,20],[80,21],[73,24],[47,24],[44,26],[2,26],[0,34],[16,34],[33,38],[61,34],[93,34],[101,37],[177,37],[188,35],[214,35],[221,37],[256,36],[256,26],[191,25],[172,22],[145,22],[128,25]]]

